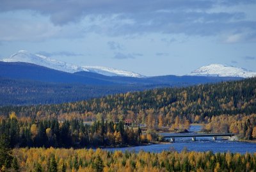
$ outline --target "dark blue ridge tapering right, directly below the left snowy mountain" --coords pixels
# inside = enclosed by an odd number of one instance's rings
[[[97,77],[90,75],[81,76],[54,70],[44,66],[24,62],[2,62],[0,61],[0,76],[9,79],[26,79],[30,81],[56,82],[56,83],[79,83],[90,85],[113,85],[111,81],[102,79],[100,74]]]

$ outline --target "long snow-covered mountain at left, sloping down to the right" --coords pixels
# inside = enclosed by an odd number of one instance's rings
[[[107,76],[143,77],[142,75],[136,74],[134,72],[116,70],[114,68],[107,68],[102,66],[77,66],[70,63],[65,63],[63,61],[58,61],[56,59],[47,58],[40,54],[31,54],[28,51],[19,51],[9,58],[4,58],[1,61],[33,63],[35,65],[45,66],[47,68],[61,70],[68,73],[86,71]]]

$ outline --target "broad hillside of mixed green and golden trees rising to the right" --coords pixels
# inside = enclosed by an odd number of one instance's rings
[[[159,88],[108,95],[91,100],[39,106],[1,107],[0,114],[35,119],[80,118],[93,121],[101,114],[108,121],[131,118],[147,126],[171,126],[178,116],[185,123],[207,123],[212,116],[221,114],[256,113],[256,78],[241,81],[201,84],[186,88]]]

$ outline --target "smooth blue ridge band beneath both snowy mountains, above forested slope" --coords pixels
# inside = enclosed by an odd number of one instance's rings
[[[0,77],[10,79],[26,79],[30,81],[79,83],[90,85],[138,85],[138,86],[189,86],[207,82],[220,82],[239,79],[234,77],[176,76],[164,75],[156,77],[122,77],[106,76],[93,72],[68,73],[45,66],[24,62],[0,61]]]

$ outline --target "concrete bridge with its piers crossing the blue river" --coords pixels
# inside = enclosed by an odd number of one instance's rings
[[[216,140],[217,137],[229,137],[236,136],[236,133],[212,133],[212,134],[161,134],[164,138],[170,138],[171,142],[175,141],[175,138],[184,138],[191,137],[192,141],[196,141],[196,137],[212,137],[212,139]]]

